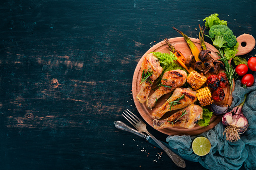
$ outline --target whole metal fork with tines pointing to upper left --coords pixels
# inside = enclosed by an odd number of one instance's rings
[[[127,111],[126,111],[127,110]],[[180,156],[175,154],[173,151],[171,151],[168,147],[163,145],[159,140],[157,140],[152,134],[150,134],[147,130],[147,125],[134,113],[132,113],[130,110],[126,109],[124,110],[122,116],[128,120],[137,130],[141,132],[147,133],[164,151],[167,153],[167,155],[172,159],[172,161],[179,167],[185,167],[185,161]]]

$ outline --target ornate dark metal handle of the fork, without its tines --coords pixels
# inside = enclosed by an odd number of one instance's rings
[[[148,131],[146,132],[164,151],[167,155],[172,159],[172,161],[179,167],[185,167],[185,161],[180,156],[171,151],[168,147],[163,145],[159,140],[157,140],[152,134]]]

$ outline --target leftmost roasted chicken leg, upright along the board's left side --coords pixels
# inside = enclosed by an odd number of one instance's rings
[[[163,68],[160,66],[160,61],[154,56],[153,53],[149,53],[143,59],[141,65],[141,76],[145,73],[153,73],[144,82],[141,83],[141,89],[136,98],[139,102],[144,103],[149,96],[150,89],[154,81],[161,75]]]

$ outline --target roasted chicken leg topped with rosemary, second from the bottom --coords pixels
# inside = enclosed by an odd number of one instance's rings
[[[183,94],[184,96],[182,97]],[[162,106],[153,111],[152,116],[155,119],[160,119],[168,111],[179,110],[189,106],[197,101],[196,94],[196,91],[189,88],[178,87],[173,91],[171,97]],[[178,102],[177,99],[179,99]]]

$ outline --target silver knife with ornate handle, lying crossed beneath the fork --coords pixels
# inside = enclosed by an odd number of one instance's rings
[[[148,142],[150,142],[151,144],[153,144],[154,146],[162,149],[149,135],[146,135],[138,130],[135,130],[134,128],[126,125],[125,123],[121,122],[121,121],[114,121],[114,125],[117,129],[120,130],[124,130],[124,131],[128,131],[131,133],[134,133],[142,138],[145,138]],[[166,147],[168,147],[170,150],[172,150],[174,153],[176,153],[177,155],[179,155],[178,151],[176,149],[171,148],[171,146],[163,141],[160,141],[161,143],[163,143]],[[180,156],[180,155],[179,155]]]

